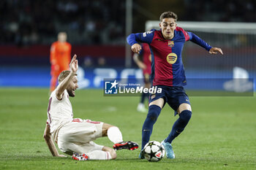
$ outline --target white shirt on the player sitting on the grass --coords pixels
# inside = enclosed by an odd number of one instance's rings
[[[53,90],[49,98],[47,123],[50,125],[50,134],[53,134],[55,141],[57,141],[59,129],[72,120],[72,104],[67,90],[64,90],[61,100],[56,97],[56,90]]]

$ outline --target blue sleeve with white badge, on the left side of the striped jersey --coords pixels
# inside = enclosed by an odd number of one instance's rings
[[[127,36],[127,42],[131,46],[134,45],[135,43],[140,43],[140,42],[150,44],[153,40],[153,37],[154,37],[154,30],[147,31],[144,33],[129,34],[129,36]]]

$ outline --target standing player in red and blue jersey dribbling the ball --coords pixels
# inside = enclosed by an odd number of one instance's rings
[[[210,54],[221,53],[223,55],[220,48],[211,47],[192,32],[184,31],[183,28],[178,27],[176,24],[177,15],[174,12],[163,12],[159,19],[160,30],[127,36],[127,42],[132,46],[134,53],[140,53],[139,42],[148,43],[151,49],[152,85],[162,88],[162,93],[152,93],[149,98],[148,115],[143,123],[139,158],[144,158],[143,147],[149,141],[153,125],[166,103],[174,109],[175,115],[179,115],[170,134],[162,141],[167,158],[175,158],[171,143],[176,136],[184,131],[192,116],[189,97],[183,88],[187,84],[181,58],[184,43],[191,41],[208,50]]]

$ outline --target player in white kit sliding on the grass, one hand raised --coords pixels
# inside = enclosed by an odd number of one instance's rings
[[[70,71],[66,70],[59,74],[59,85],[49,98],[44,138],[52,155],[65,157],[59,154],[53,139],[62,152],[72,155],[72,158],[79,161],[115,159],[115,150],[137,149],[137,143],[123,141],[121,131],[114,125],[73,118],[69,96],[75,97],[75,90],[78,88],[76,55],[73,56],[69,68]],[[113,148],[93,142],[94,139],[102,136],[108,136],[108,139],[114,143]]]

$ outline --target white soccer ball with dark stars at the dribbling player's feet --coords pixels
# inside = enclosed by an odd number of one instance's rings
[[[148,142],[143,150],[146,160],[150,162],[160,161],[165,156],[165,147],[157,141]]]

